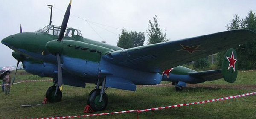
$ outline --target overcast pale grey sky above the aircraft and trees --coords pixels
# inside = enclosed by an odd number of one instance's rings
[[[61,26],[69,1],[0,0],[0,39],[18,33],[20,24],[23,32],[48,25],[47,4],[54,6],[52,24]],[[167,29],[166,37],[173,41],[225,31],[235,13],[244,18],[250,10],[256,12],[255,5],[256,0],[73,0],[67,27],[80,29],[85,38],[116,46],[119,29],[146,32],[148,20],[157,15],[161,29]],[[119,29],[96,26],[74,16]],[[0,56],[0,66],[17,64],[12,49],[3,44]]]

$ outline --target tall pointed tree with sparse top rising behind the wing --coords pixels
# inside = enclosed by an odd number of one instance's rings
[[[160,29],[160,24],[157,23],[157,15],[153,17],[153,23],[149,20],[148,29],[146,31],[148,39],[148,44],[155,44],[160,42],[168,41],[166,38],[166,29],[165,32],[162,32]]]

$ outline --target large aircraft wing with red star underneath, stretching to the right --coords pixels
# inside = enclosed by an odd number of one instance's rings
[[[255,40],[250,30],[231,30],[178,41],[139,46],[107,53],[113,64],[146,72],[160,72]]]

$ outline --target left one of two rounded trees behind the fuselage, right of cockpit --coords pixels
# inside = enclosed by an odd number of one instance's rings
[[[122,29],[122,33],[119,36],[119,40],[117,41],[117,46],[122,47],[124,49],[132,47],[131,36],[126,29]]]

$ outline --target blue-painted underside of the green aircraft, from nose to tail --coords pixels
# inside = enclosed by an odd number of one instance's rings
[[[23,67],[27,72],[39,75],[41,77],[57,78],[58,68],[57,65],[53,63],[56,62],[56,56],[52,54],[43,56],[38,53],[28,52],[24,49],[15,50],[23,52],[32,58],[42,59],[42,63],[33,63],[31,61],[24,60]],[[131,91],[136,90],[136,85],[155,85],[159,84],[161,81],[177,82],[176,85],[178,86],[186,86],[186,83],[194,84],[207,81],[200,77],[194,77],[193,75],[178,75],[169,73],[169,77],[167,78],[166,75],[162,76],[159,73],[134,70],[129,67],[112,64],[108,61],[108,55],[102,55],[100,62],[71,58],[66,55],[61,55],[61,59],[61,67],[63,69],[63,84],[76,87],[85,87],[85,83],[96,84],[99,77],[106,78],[106,87]]]

